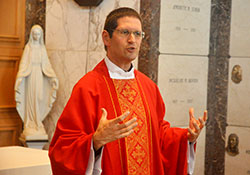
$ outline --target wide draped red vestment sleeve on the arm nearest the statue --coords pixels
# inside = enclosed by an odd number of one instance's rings
[[[97,100],[94,91],[79,83],[74,87],[50,144],[53,175],[85,174],[98,121]]]

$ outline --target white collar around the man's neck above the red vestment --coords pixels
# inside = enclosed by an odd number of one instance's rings
[[[124,71],[114,63],[112,63],[108,57],[106,56],[104,58],[104,61],[107,65],[108,71],[109,71],[109,76],[112,79],[133,79],[135,78],[134,74],[134,66],[129,69],[129,71]]]

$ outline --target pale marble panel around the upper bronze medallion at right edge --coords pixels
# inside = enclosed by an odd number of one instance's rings
[[[242,80],[232,80],[233,68],[239,65]],[[229,62],[228,81],[228,117],[229,125],[250,126],[250,58],[231,58]]]

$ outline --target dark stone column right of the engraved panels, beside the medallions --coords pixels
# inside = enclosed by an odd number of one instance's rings
[[[224,175],[231,0],[212,0],[205,174]]]

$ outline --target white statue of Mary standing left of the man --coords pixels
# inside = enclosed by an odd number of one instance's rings
[[[15,84],[16,109],[24,122],[21,137],[26,140],[47,139],[42,121],[56,99],[58,79],[51,67],[43,41],[43,29],[31,28]]]

